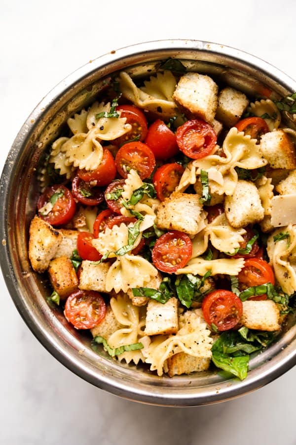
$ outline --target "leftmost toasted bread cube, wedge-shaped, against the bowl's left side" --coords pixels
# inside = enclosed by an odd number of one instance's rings
[[[35,216],[30,224],[29,259],[36,272],[44,272],[62,241],[62,235],[46,221]]]

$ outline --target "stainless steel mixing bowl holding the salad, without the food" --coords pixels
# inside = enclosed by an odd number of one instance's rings
[[[77,332],[46,303],[45,277],[28,261],[28,227],[37,201],[36,169],[42,152],[67,118],[94,100],[113,73],[134,77],[153,73],[168,57],[182,59],[190,70],[208,73],[249,96],[279,98],[296,91],[296,82],[266,62],[243,51],[200,41],[158,41],[111,51],[75,71],[37,105],[17,135],[0,181],[1,267],[9,293],[25,322],[44,347],[74,373],[118,396],[171,406],[225,401],[253,391],[296,363],[295,317],[278,341],[253,357],[244,381],[225,380],[213,370],[192,375],[157,377],[147,369],[116,362],[90,348],[90,338]]]

